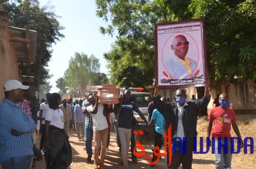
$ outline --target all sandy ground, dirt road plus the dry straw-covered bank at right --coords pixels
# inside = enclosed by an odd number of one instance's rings
[[[252,137],[254,139],[254,154],[244,154],[243,150],[239,154],[234,154],[232,156],[232,169],[256,169],[256,114],[254,115],[239,115],[237,116],[238,126],[242,138]],[[206,137],[207,130],[207,117],[200,117],[197,123],[198,137]],[[234,135],[234,131],[231,131],[231,135]],[[145,147],[145,154],[152,155],[151,148],[153,147],[153,137],[150,137],[150,142],[145,141],[145,136],[137,137],[139,142]],[[198,139],[199,140],[199,139]],[[84,150],[84,141],[78,141],[76,133],[74,130],[70,130],[69,142],[72,147],[73,153],[73,165],[68,167],[69,169],[93,169],[93,163],[87,163],[87,154]],[[197,150],[199,149],[199,143],[197,144]],[[205,145],[205,144],[204,144]],[[204,146],[205,150],[205,146]],[[249,151],[249,148],[248,148]],[[161,149],[161,152],[164,152],[164,149]],[[93,158],[92,158],[93,159]],[[162,157],[162,160],[159,161],[152,168],[142,157],[137,158],[138,163],[133,164],[131,162],[131,153],[128,153],[128,165],[130,169],[166,169],[166,157]],[[123,167],[120,163],[119,151],[116,147],[115,134],[111,132],[111,140],[109,145],[109,150],[106,152],[105,168],[106,169],[122,169]],[[214,169],[215,168],[215,155],[211,153],[211,150],[207,154],[194,154],[193,155],[193,164],[192,169]],[[44,169],[44,161],[37,161],[33,169]],[[1,167],[0,167],[1,169]]]

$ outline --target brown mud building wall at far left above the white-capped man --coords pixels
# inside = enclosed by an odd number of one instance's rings
[[[18,59],[9,41],[7,25],[0,23],[0,102],[4,98],[3,86],[7,80],[18,80]]]

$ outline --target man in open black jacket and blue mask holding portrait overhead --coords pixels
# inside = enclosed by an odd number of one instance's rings
[[[156,109],[164,116],[164,129],[168,130],[172,124],[172,135],[168,138],[172,139],[172,145],[176,144],[181,146],[175,146],[176,152],[173,152],[172,146],[172,162],[169,166],[169,150],[167,144],[167,168],[177,169],[182,164],[183,169],[192,168],[192,156],[193,156],[193,138],[197,136],[197,116],[199,109],[207,108],[210,101],[209,94],[209,82],[205,86],[204,97],[199,99],[196,103],[191,101],[187,102],[186,92],[184,89],[177,89],[176,91],[176,103],[164,103],[160,100],[158,95],[159,88],[157,83],[154,82],[155,94],[153,95],[154,104]],[[179,139],[177,139],[179,138]],[[180,148],[186,144],[186,153],[180,153]],[[184,150],[182,150],[184,152]]]

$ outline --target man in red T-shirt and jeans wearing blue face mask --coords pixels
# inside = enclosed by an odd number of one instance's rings
[[[240,147],[244,147],[244,142],[236,124],[236,115],[233,109],[228,107],[229,97],[227,94],[222,93],[219,95],[219,104],[220,106],[214,107],[209,114],[207,136],[210,137],[211,134],[212,138],[215,138],[216,169],[231,169],[231,126],[240,140]],[[213,121],[214,126],[212,128]],[[211,145],[211,140],[209,145]],[[226,145],[227,152],[224,151],[225,147],[219,147],[219,145]]]

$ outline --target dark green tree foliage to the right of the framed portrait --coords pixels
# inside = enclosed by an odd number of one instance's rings
[[[206,21],[208,70],[213,80],[256,80],[256,1],[192,0],[193,19]]]

